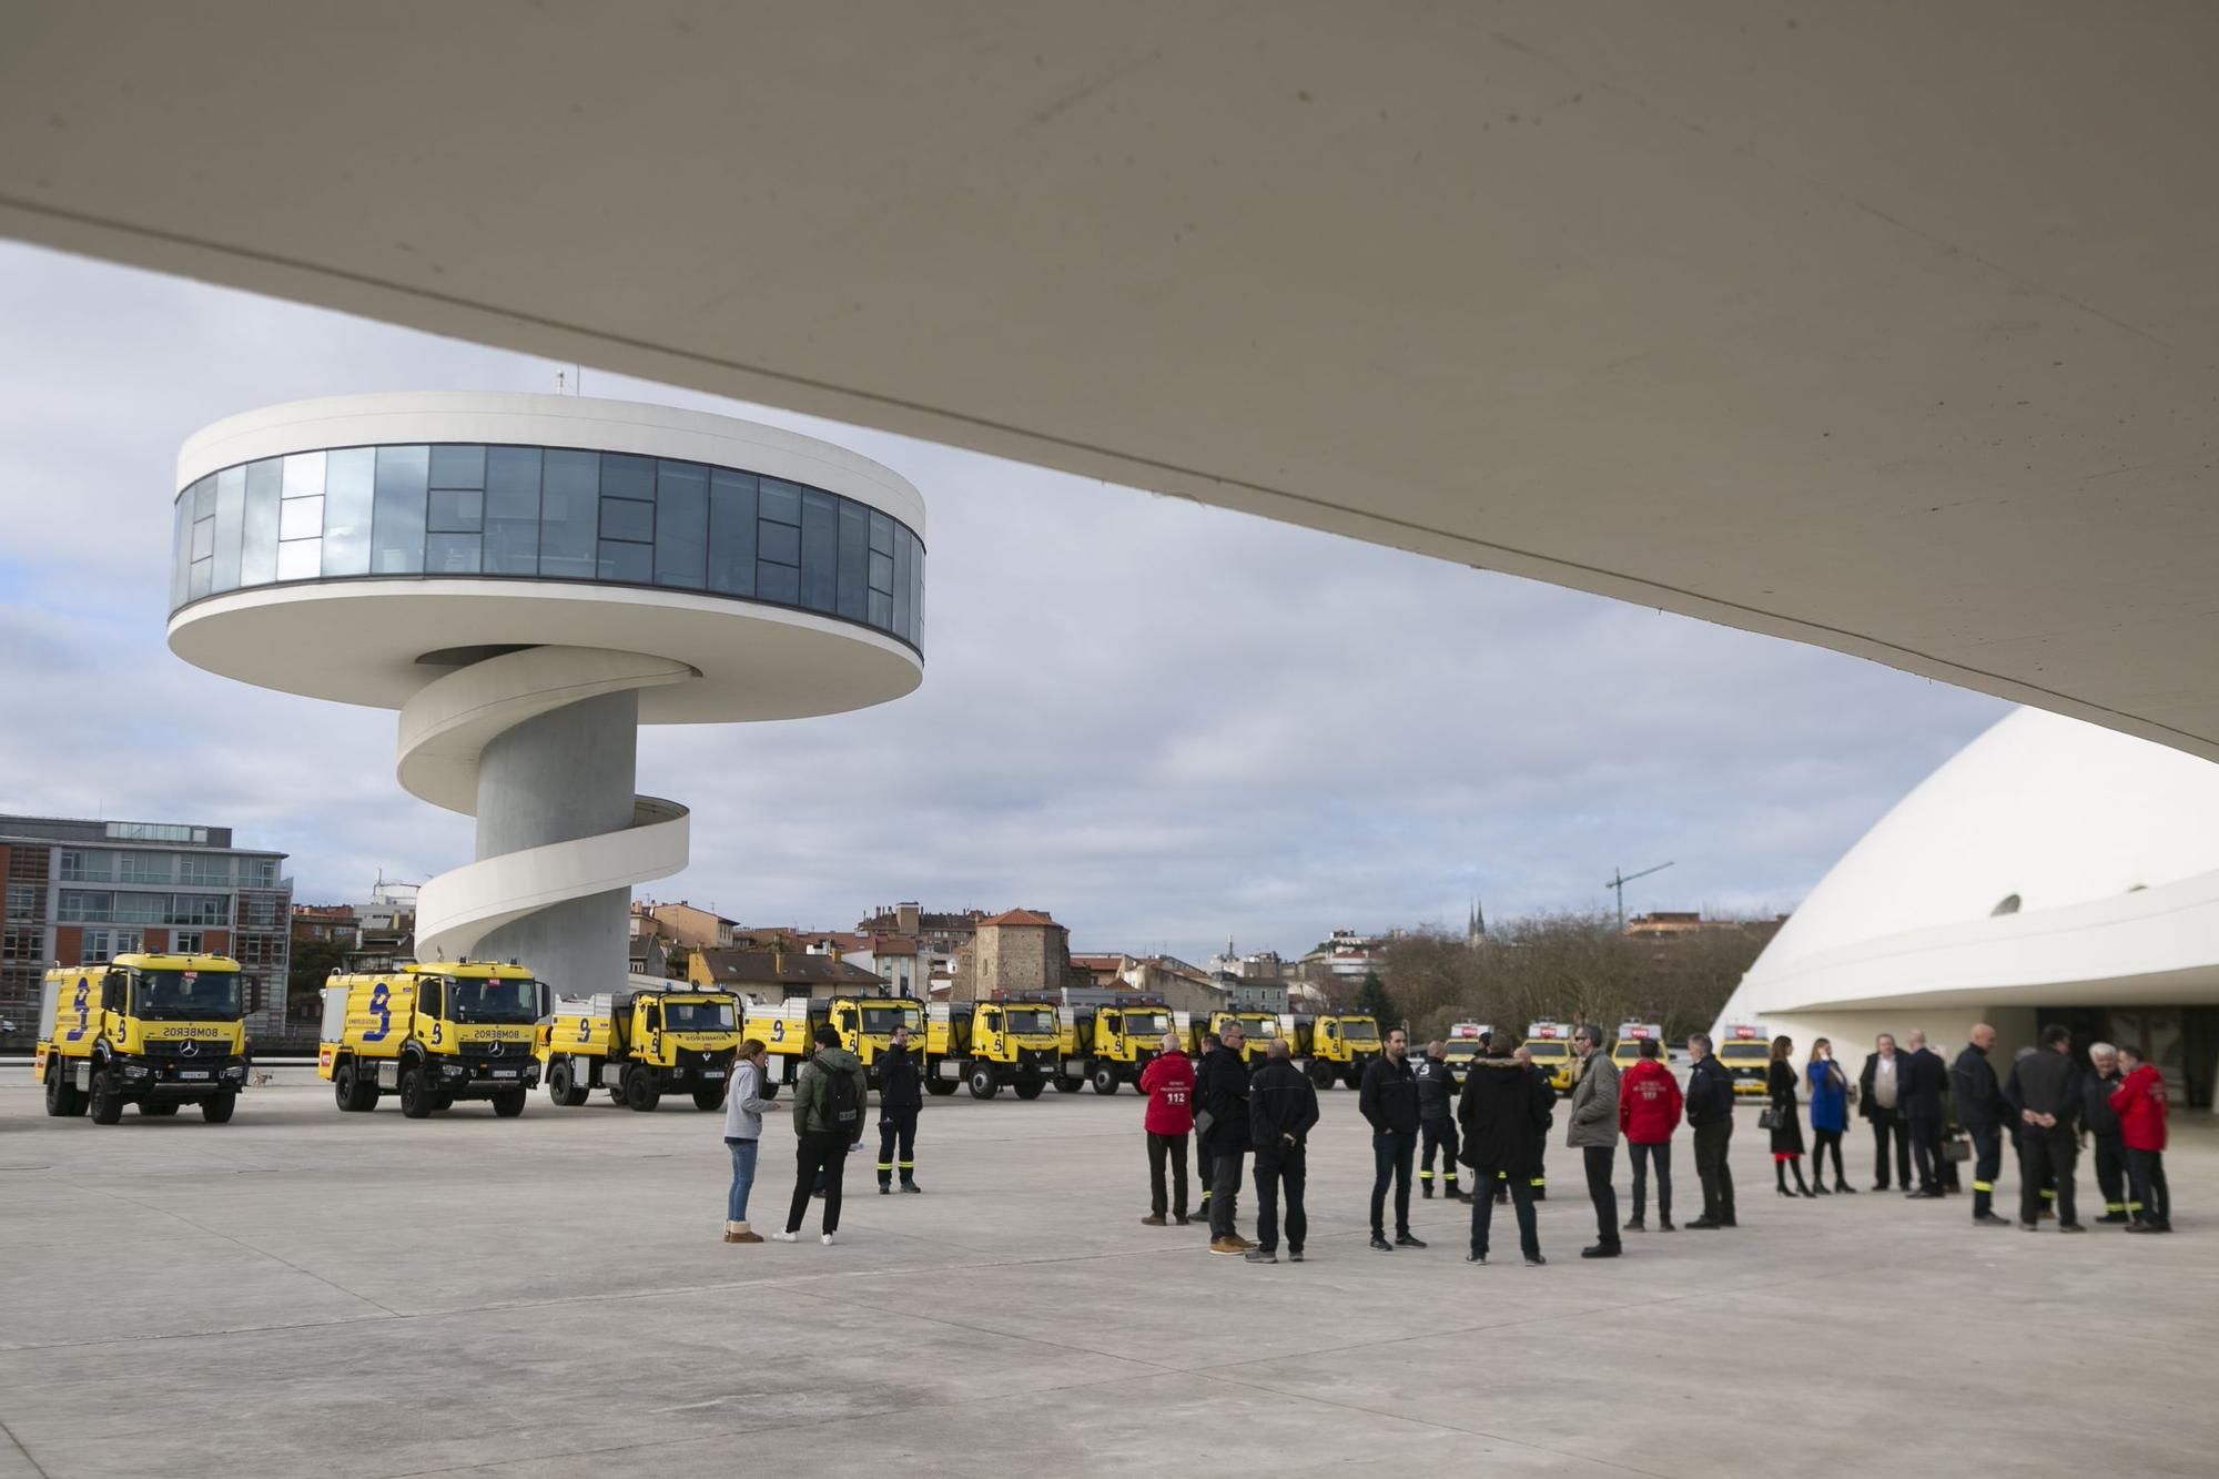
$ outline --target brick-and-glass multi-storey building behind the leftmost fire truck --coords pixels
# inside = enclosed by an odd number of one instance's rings
[[[27,1039],[49,964],[131,950],[231,955],[249,1033],[284,1033],[293,879],[229,826],[0,817],[0,1017]]]

